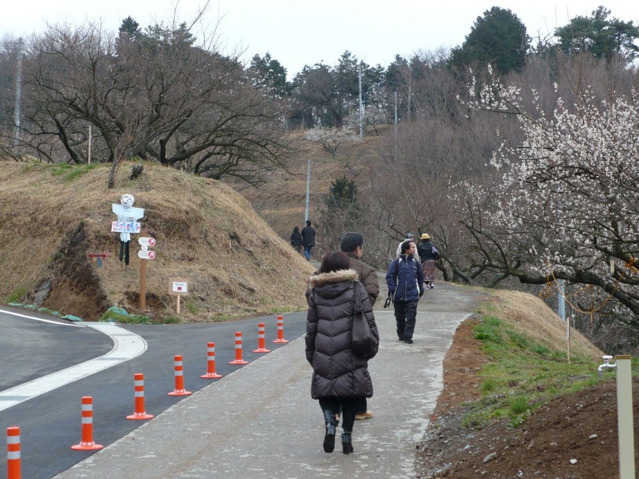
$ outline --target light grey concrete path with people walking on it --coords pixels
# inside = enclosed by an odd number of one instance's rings
[[[369,364],[374,417],[355,422],[354,454],[341,453],[339,440],[334,453],[322,450],[323,415],[310,397],[312,369],[300,336],[56,477],[414,477],[416,444],[443,387],[442,360],[478,298],[436,284],[420,302],[414,344],[405,345],[392,311],[382,308],[385,295],[375,304],[380,352]]]

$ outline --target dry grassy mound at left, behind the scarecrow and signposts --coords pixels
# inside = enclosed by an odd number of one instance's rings
[[[305,308],[313,268],[293,252],[231,188],[172,168],[144,164],[130,180],[122,164],[116,187],[107,166],[0,162],[0,301],[22,303],[97,320],[110,306],[139,304],[139,259],[134,235],[130,265],[118,261],[112,203],[135,197],[145,209],[142,229],[156,239],[147,261],[144,313],[176,315],[169,278],[189,280],[180,319],[187,322],[267,315]],[[88,254],[108,252],[103,266]]]

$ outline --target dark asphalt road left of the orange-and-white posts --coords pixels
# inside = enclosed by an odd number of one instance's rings
[[[70,326],[32,311],[2,309],[51,322],[0,313],[0,394],[69,366],[99,361],[113,347],[112,339],[96,329]],[[305,320],[304,312],[284,315],[284,338],[293,340],[303,334]],[[205,324],[121,325],[144,338],[144,354],[0,410],[3,434],[9,426],[21,428],[23,478],[51,478],[92,454],[71,450],[81,439],[83,396],[94,398],[94,441],[108,446],[144,422],[126,419],[135,410],[135,373],[144,374],[146,412],[159,415],[185,398],[167,394],[175,389],[173,356],[183,356],[185,389],[196,392],[219,381],[200,378],[207,372],[207,342],[215,342],[216,372],[223,376],[241,368],[228,364],[235,359],[236,331],[243,335],[244,360],[251,362],[264,356],[251,352],[257,348],[259,322],[266,324],[266,349],[282,347],[272,342],[277,337],[276,315]],[[3,454],[0,478],[6,477],[6,470]]]

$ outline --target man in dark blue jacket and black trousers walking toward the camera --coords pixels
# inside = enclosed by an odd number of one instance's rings
[[[424,294],[424,273],[415,261],[414,241],[402,243],[402,254],[389,265],[386,272],[386,285],[393,296],[397,336],[400,341],[413,344],[413,332],[417,317],[417,302]]]

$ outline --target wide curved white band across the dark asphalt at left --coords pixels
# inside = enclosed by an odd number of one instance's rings
[[[37,319],[37,318],[35,318]],[[45,392],[91,376],[119,363],[136,358],[146,351],[146,341],[142,336],[109,322],[85,322],[83,326],[97,329],[113,340],[113,349],[99,358],[94,358],[48,376],[34,379],[11,389],[0,392],[0,411],[40,396]]]

